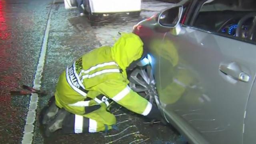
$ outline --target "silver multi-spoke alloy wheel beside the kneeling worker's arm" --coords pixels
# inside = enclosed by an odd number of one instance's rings
[[[151,104],[159,105],[154,75],[150,65],[137,66],[128,72],[129,86]]]

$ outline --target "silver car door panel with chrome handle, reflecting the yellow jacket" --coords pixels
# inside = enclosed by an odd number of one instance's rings
[[[195,143],[242,144],[255,44],[194,26],[174,32],[179,26],[166,33],[160,56],[166,118]]]

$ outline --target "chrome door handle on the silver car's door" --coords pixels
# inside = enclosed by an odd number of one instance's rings
[[[232,78],[242,82],[249,82],[250,80],[250,76],[246,74],[246,72],[243,72],[236,62],[221,64],[219,70],[224,74],[232,76]]]

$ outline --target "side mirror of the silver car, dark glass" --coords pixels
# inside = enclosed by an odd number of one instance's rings
[[[164,10],[158,17],[158,23],[164,27],[174,28],[180,23],[183,6],[175,6]]]

